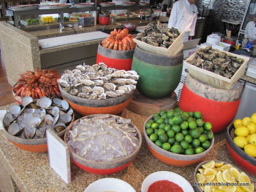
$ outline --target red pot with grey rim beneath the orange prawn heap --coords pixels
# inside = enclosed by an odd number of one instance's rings
[[[133,50],[112,50],[102,47],[100,44],[98,46],[96,64],[103,62],[108,67],[112,67],[119,70],[131,70],[132,67],[132,57],[134,54]]]

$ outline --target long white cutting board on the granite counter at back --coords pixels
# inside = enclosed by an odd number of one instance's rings
[[[89,33],[82,33],[82,34],[75,34],[75,35],[67,35],[61,37],[54,37],[48,39],[40,39],[39,45],[42,49],[51,48],[66,44],[96,40],[96,39],[103,39],[108,37],[109,34],[104,32],[96,31],[96,32],[89,32]]]

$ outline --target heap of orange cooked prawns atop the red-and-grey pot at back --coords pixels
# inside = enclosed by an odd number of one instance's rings
[[[135,49],[136,43],[134,42],[133,36],[128,33],[128,29],[114,29],[110,32],[110,36],[102,40],[101,45],[104,48],[113,50],[132,50]]]

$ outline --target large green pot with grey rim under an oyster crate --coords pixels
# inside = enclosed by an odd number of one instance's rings
[[[136,46],[132,70],[140,75],[137,90],[149,98],[170,96],[180,82],[182,66],[182,51],[176,56],[163,56],[145,52]]]

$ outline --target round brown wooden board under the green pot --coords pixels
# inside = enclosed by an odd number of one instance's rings
[[[147,98],[142,95],[138,90],[134,91],[134,96],[127,106],[129,110],[136,114],[143,116],[150,116],[160,110],[170,110],[176,107],[177,95],[172,92],[170,97],[160,99]]]

